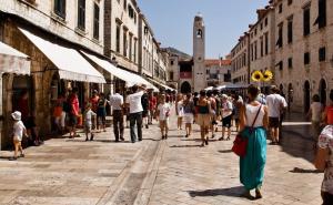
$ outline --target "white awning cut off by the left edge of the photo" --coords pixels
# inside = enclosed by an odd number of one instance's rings
[[[30,74],[29,57],[0,41],[0,72]]]

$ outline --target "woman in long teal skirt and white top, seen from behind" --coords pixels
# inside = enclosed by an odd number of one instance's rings
[[[246,189],[244,196],[248,198],[252,198],[251,189],[255,189],[255,198],[262,197],[260,189],[266,163],[266,127],[269,117],[268,107],[255,100],[259,92],[258,86],[249,86],[249,102],[241,109],[240,113],[242,136],[249,140],[246,154],[240,158],[240,180]]]

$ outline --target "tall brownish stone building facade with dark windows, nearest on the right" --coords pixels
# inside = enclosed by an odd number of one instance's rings
[[[251,69],[270,65],[291,111],[307,112],[313,94],[326,104],[333,89],[333,1],[272,0],[266,9],[271,54],[258,64],[251,61]]]

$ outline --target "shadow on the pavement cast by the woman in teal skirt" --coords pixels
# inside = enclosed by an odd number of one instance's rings
[[[243,186],[235,186],[230,188],[216,188],[216,189],[205,189],[205,191],[188,191],[191,197],[196,196],[233,196],[242,197],[244,193]]]

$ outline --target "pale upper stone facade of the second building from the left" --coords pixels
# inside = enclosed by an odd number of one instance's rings
[[[132,72],[139,72],[139,13],[137,0],[105,0],[104,54]]]

